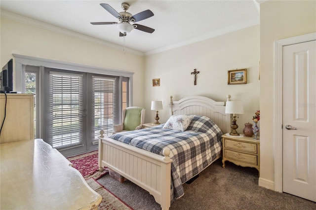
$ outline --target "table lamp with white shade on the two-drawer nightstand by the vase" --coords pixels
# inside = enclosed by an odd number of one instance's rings
[[[229,133],[231,136],[239,136],[236,129],[238,128],[238,125],[236,123],[236,114],[243,114],[243,105],[242,102],[238,101],[228,101],[226,102],[226,108],[225,108],[226,114],[233,114],[233,120],[232,120],[232,132]]]

